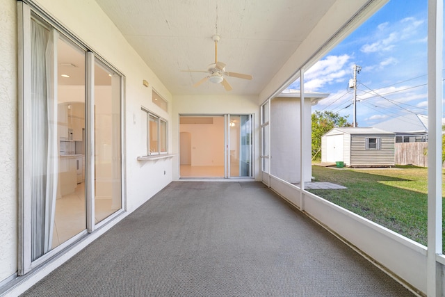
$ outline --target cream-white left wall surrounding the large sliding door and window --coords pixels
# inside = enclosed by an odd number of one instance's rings
[[[131,212],[172,180],[172,159],[157,162],[136,159],[146,153],[145,144],[140,141],[141,106],[168,120],[168,144],[169,150],[172,150],[172,96],[95,1],[37,0],[35,3],[125,76],[122,111],[125,149],[122,154],[122,170],[126,173],[123,184],[126,184],[124,197],[127,200],[124,207]],[[0,0],[0,7],[0,98],[3,107],[0,109],[1,285],[12,280],[17,273],[17,1]],[[143,86],[143,79],[149,82],[149,88]],[[169,113],[152,103],[152,88],[169,102]],[[49,272],[50,269],[47,270]]]

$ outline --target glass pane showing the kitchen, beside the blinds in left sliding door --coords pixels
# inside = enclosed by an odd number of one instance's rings
[[[86,230],[86,52],[57,42],[58,187],[52,247]]]

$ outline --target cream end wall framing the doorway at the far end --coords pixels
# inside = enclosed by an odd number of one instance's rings
[[[219,86],[217,86],[219,87]],[[257,95],[174,95],[172,110],[172,147],[174,148],[172,179],[179,179],[179,115],[254,115],[254,178],[259,175],[259,104]]]

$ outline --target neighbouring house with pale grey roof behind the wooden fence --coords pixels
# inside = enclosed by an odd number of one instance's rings
[[[424,143],[428,141],[428,116],[409,113],[373,125],[374,128],[394,132],[396,143]]]

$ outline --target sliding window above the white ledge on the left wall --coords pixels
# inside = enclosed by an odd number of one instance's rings
[[[158,115],[142,109],[143,125],[142,139],[147,155],[167,153],[167,121]]]

